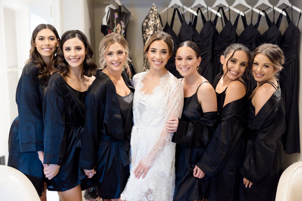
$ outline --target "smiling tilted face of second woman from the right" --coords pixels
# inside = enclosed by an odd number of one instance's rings
[[[220,62],[223,64],[224,77],[227,77],[230,80],[238,79],[244,73],[249,62],[249,56],[246,54],[246,52],[237,50],[232,56],[233,52],[234,51],[226,55],[226,58],[224,56],[220,57]],[[228,60],[229,62],[226,66],[226,62]]]

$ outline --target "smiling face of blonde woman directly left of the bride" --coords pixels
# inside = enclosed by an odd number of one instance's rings
[[[126,64],[126,53],[119,42],[112,43],[105,51],[106,68],[109,71],[122,71]]]

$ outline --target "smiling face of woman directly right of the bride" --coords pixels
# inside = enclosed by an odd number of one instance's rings
[[[197,72],[200,61],[201,58],[197,58],[194,50],[188,46],[182,46],[176,52],[175,65],[182,77]]]

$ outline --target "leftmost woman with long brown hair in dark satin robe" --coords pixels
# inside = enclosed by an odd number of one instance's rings
[[[23,68],[16,91],[19,116],[11,124],[8,138],[8,166],[25,174],[39,196],[43,191],[42,104],[59,39],[56,29],[50,24],[40,24],[34,29],[30,58]],[[46,195],[43,196],[41,200],[46,199]]]

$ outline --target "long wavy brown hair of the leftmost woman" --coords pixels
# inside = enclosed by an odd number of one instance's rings
[[[41,31],[43,29],[50,29],[55,34],[56,40],[59,42],[60,36],[59,36],[56,28],[53,27],[53,25],[39,24],[34,29],[33,34],[31,35],[31,50],[29,51],[29,59],[25,62],[25,64],[27,64],[31,61],[34,62],[37,65],[37,68],[39,70],[38,79],[47,80],[50,77],[50,72],[47,69],[47,66],[46,66],[45,62],[43,61],[40,53],[37,51],[37,48],[35,47],[36,37],[37,37],[39,31]]]

